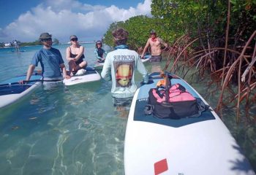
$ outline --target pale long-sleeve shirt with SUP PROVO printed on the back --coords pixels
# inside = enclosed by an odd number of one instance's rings
[[[135,69],[148,82],[148,72],[134,50],[118,49],[109,52],[102,69],[102,78],[112,79],[111,93],[115,98],[132,97],[137,90],[135,85]]]

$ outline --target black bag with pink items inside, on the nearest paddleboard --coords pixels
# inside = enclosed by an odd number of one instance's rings
[[[199,117],[202,112],[208,109],[208,106],[200,98],[192,97],[184,86],[180,84],[170,85],[171,78],[173,77],[170,74],[165,74],[165,87],[149,90],[148,104],[144,109],[145,114],[154,114],[159,118],[180,119],[183,117]],[[182,100],[181,96],[189,96],[190,99],[189,101]],[[161,98],[163,99],[161,100]],[[176,101],[172,101],[172,98],[176,98]]]

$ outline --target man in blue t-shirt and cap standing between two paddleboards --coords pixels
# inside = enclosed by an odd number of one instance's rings
[[[32,58],[31,65],[27,71],[26,81],[29,81],[33,74],[34,68],[40,63],[42,67],[42,78],[46,80],[50,79],[69,79],[67,75],[66,67],[59,50],[51,47],[53,42],[51,35],[48,33],[42,33],[39,36],[39,41],[42,42],[43,47],[37,51]],[[61,71],[63,77],[61,76]],[[20,84],[23,84],[23,80],[20,80]]]

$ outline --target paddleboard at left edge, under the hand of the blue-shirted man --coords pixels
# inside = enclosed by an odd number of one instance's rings
[[[39,74],[32,74],[30,80],[41,79],[42,76]],[[23,85],[18,84],[17,82],[21,79],[26,79],[26,74],[8,79],[7,81],[1,82],[0,84],[0,108],[13,104],[16,101],[27,96],[33,90],[38,88],[42,82],[29,82]],[[7,85],[9,84],[9,85]],[[12,85],[13,84],[13,85]]]

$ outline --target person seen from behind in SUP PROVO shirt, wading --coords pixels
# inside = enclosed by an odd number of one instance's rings
[[[126,106],[130,104],[137,90],[134,80],[135,69],[143,75],[144,83],[148,83],[148,73],[140,61],[138,52],[128,49],[128,32],[118,28],[112,35],[116,50],[108,52],[101,75],[104,79],[111,76],[114,106]]]

